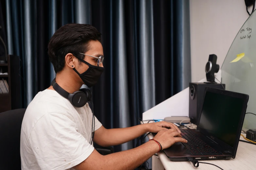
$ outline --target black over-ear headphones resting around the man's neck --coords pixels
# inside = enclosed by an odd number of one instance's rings
[[[51,85],[56,92],[68,99],[75,107],[83,107],[87,102],[91,100],[92,94],[89,89],[83,88],[79,91],[69,93],[56,83],[55,78],[52,80]]]

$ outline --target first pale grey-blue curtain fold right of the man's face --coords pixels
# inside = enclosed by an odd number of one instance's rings
[[[127,55],[126,55],[126,33],[125,33],[125,16],[124,16],[124,1],[116,2],[116,21],[114,29],[118,32],[115,34],[115,71],[113,77],[115,80],[115,108],[118,121],[118,127],[124,128],[130,126],[129,106],[128,106],[128,79],[127,79]],[[131,143],[122,144],[121,149],[131,149]]]

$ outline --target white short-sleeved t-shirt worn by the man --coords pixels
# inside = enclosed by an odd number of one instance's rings
[[[22,169],[74,169],[94,150],[89,144],[92,119],[88,103],[77,108],[54,90],[39,92],[22,121]],[[101,126],[95,117],[95,131]]]

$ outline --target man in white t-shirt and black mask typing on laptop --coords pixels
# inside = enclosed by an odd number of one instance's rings
[[[104,70],[100,35],[91,25],[67,24],[50,39],[48,54],[56,72],[55,82],[64,91],[73,93],[83,84],[91,87],[97,82]],[[94,120],[93,140],[103,147],[123,144],[146,132],[158,134],[155,141],[103,156],[90,144],[93,114],[88,103],[76,107],[50,86],[38,92],[26,109],[21,129],[22,169],[135,169],[161,148],[186,143],[172,123],[105,129],[97,118]]]

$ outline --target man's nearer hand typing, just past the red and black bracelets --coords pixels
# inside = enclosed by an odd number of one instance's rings
[[[167,149],[176,142],[187,143],[186,139],[181,138],[179,132],[176,129],[162,130],[153,138],[162,145],[162,149]]]

